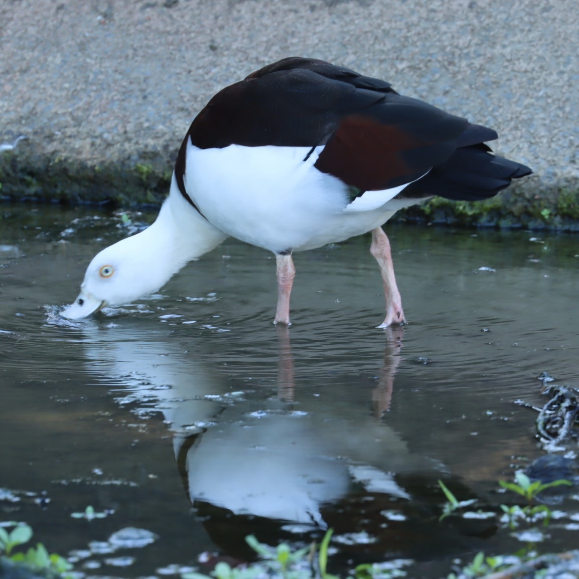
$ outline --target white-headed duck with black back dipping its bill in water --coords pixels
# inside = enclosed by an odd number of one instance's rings
[[[226,237],[272,251],[274,323],[290,324],[292,254],[372,232],[384,282],[381,327],[404,324],[388,237],[396,211],[435,195],[481,200],[532,171],[493,155],[497,134],[384,80],[310,58],[284,58],[219,91],[179,149],[156,221],[90,262],[82,318],[158,290]]]

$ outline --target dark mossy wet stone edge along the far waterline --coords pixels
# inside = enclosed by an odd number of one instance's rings
[[[5,151],[0,154],[0,201],[160,206],[171,181],[170,159],[176,154],[176,150],[168,156],[142,152],[138,162],[91,163],[58,155]],[[578,182],[545,184],[537,175],[521,181],[485,201],[438,197],[398,211],[394,221],[579,232]]]

